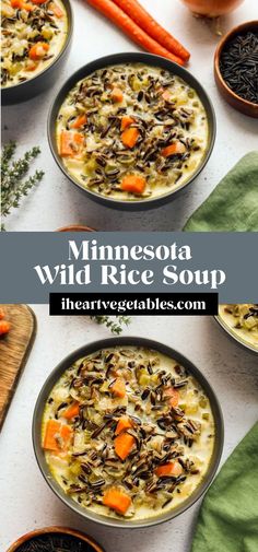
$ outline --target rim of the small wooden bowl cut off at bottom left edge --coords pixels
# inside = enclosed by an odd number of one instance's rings
[[[19,552],[19,548],[24,543],[28,542],[35,537],[40,537],[43,535],[47,533],[59,533],[59,535],[70,535],[71,537],[75,537],[80,539],[82,542],[85,542],[85,544],[90,544],[94,552],[105,552],[104,549],[97,544],[91,537],[87,535],[84,535],[81,531],[77,531],[74,529],[70,529],[69,527],[45,527],[44,529],[36,529],[35,531],[27,532],[23,537],[20,537],[11,547],[8,549],[7,552]]]

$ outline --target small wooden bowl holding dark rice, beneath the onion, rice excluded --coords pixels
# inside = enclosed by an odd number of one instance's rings
[[[215,57],[214,57],[214,77],[215,77],[215,83],[216,86],[221,93],[221,95],[224,97],[224,99],[235,109],[237,109],[241,113],[244,113],[245,115],[248,115],[249,117],[255,117],[258,118],[258,104],[253,104],[251,102],[247,102],[247,99],[242,98],[233,90],[227,86],[226,82],[224,81],[221,70],[220,70],[220,58],[221,54],[230,40],[234,38],[234,36],[242,34],[246,31],[254,31],[258,30],[258,21],[248,21],[246,23],[243,23],[242,25],[238,25],[234,27],[230,33],[227,33],[222,40],[219,43],[218,48],[215,50]]]

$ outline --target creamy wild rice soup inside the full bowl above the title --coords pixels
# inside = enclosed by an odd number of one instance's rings
[[[56,132],[70,176],[124,201],[181,186],[208,144],[207,114],[196,91],[142,63],[99,69],[78,82],[59,110]]]

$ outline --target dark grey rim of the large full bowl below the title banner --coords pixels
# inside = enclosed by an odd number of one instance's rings
[[[195,492],[177,508],[171,509],[165,515],[163,516],[157,516],[153,518],[149,518],[146,520],[139,520],[139,521],[130,521],[127,520],[126,522],[124,520],[117,520],[115,518],[108,517],[108,516],[102,516],[95,513],[92,513],[90,509],[82,508],[80,507],[79,504],[77,504],[72,498],[69,500],[69,497],[63,493],[61,490],[60,485],[54,480],[54,478],[50,475],[50,472],[47,468],[47,463],[44,457],[44,453],[42,449],[42,433],[40,431],[37,431],[38,424],[42,423],[42,415],[44,412],[44,407],[47,397],[49,396],[49,392],[51,391],[54,385],[58,380],[61,374],[73,364],[77,360],[79,360],[81,356],[85,354],[90,354],[94,351],[98,351],[101,349],[105,349],[108,347],[120,347],[120,345],[130,345],[130,347],[144,347],[148,349],[156,350],[161,353],[164,353],[168,355],[169,357],[176,360],[177,362],[181,363],[184,366],[189,369],[189,372],[196,377],[196,379],[201,384],[203,387],[206,394],[209,397],[210,403],[211,403],[211,409],[212,413],[214,416],[214,423],[215,423],[215,441],[214,441],[214,449],[213,449],[213,455],[212,459],[210,462],[210,466],[208,468],[208,472],[203,477],[202,481],[198,485],[198,488],[195,490]],[[40,427],[40,425],[39,425]],[[168,521],[171,519],[174,519],[177,517],[179,514],[183,512],[186,512],[190,506],[192,506],[204,493],[204,491],[208,489],[210,483],[212,482],[215,472],[218,470],[222,450],[223,450],[223,443],[224,443],[224,423],[223,423],[223,414],[222,410],[219,403],[219,400],[216,398],[216,395],[214,394],[211,385],[209,384],[208,379],[203,376],[203,374],[197,368],[195,364],[191,363],[187,357],[185,357],[181,353],[175,351],[168,345],[165,345],[161,342],[146,339],[146,338],[140,338],[140,337],[116,337],[116,338],[108,338],[108,339],[102,339],[98,341],[90,342],[87,344],[82,345],[81,348],[77,349],[69,355],[67,355],[55,368],[54,371],[49,374],[47,377],[44,386],[42,387],[42,390],[38,395],[35,409],[34,409],[34,414],[33,414],[33,423],[32,423],[32,438],[33,438],[33,447],[34,447],[34,453],[36,456],[37,465],[39,467],[39,470],[45,479],[45,481],[48,483],[50,489],[54,491],[54,493],[68,507],[70,507],[73,512],[82,516],[85,520],[89,519],[91,521],[98,522],[103,526],[106,527],[114,527],[114,528],[122,528],[122,529],[142,529],[145,527],[151,527],[155,525],[160,525],[162,522]]]

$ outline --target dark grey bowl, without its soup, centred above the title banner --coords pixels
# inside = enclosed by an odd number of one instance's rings
[[[209,138],[208,138],[208,148],[206,151],[206,154],[203,155],[202,162],[200,165],[197,167],[196,172],[191,175],[191,177],[186,180],[181,186],[177,187],[175,190],[169,190],[168,193],[163,195],[157,198],[153,199],[144,199],[144,200],[138,200],[138,201],[121,201],[117,199],[113,199],[109,197],[104,197],[101,196],[99,193],[96,193],[92,190],[89,190],[84,188],[80,183],[78,183],[75,179],[72,178],[72,176],[69,175],[67,169],[63,166],[62,160],[58,153],[58,148],[56,143],[56,120],[57,116],[59,113],[59,109],[64,102],[68,93],[71,91],[71,89],[81,80],[87,77],[89,74],[93,73],[97,69],[103,69],[107,66],[114,66],[118,63],[136,63],[136,62],[141,62],[145,63],[146,66],[154,66],[154,67],[160,67],[163,69],[166,69],[167,71],[171,71],[173,74],[176,74],[184,79],[185,82],[187,82],[192,89],[196,90],[198,93],[204,108],[207,111],[207,117],[208,117],[208,125],[209,125]],[[75,73],[73,73],[67,82],[62,85],[61,90],[59,91],[56,99],[54,101],[54,104],[50,108],[49,116],[48,116],[48,141],[49,145],[52,152],[52,155],[63,172],[63,174],[69,178],[69,180],[78,186],[81,190],[84,191],[84,193],[87,195],[91,199],[96,201],[97,203],[104,204],[106,207],[110,207],[113,209],[122,209],[122,210],[128,210],[128,211],[141,211],[141,210],[148,210],[148,209],[153,209],[161,207],[167,201],[171,201],[172,199],[175,198],[175,196],[181,191],[186,186],[192,183],[192,180],[199,175],[199,173],[202,171],[202,168],[206,166],[211,152],[213,150],[214,145],[214,140],[215,140],[215,129],[216,129],[216,124],[215,124],[215,114],[213,106],[211,104],[211,101],[206,93],[202,85],[197,81],[197,79],[186,69],[183,67],[178,66],[177,63],[174,63],[173,61],[169,61],[168,59],[162,58],[160,56],[153,56],[152,54],[140,54],[140,52],[127,52],[127,54],[114,54],[112,56],[105,56],[104,58],[98,58],[94,61],[91,61],[86,66],[82,67]]]

